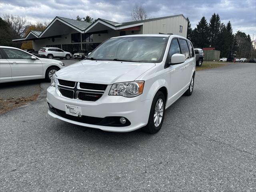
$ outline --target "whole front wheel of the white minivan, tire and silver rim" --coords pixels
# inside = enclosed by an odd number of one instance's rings
[[[165,104],[166,100],[164,94],[158,91],[151,105],[148,124],[142,128],[144,132],[154,134],[161,129],[164,121]]]

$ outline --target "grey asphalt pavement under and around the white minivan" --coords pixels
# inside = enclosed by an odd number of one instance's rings
[[[157,134],[54,119],[48,86],[0,116],[1,192],[256,191],[255,64],[196,72]]]

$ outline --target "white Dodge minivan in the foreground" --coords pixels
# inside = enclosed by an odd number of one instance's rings
[[[182,53],[182,54],[181,54]],[[48,114],[113,132],[160,130],[165,109],[194,87],[196,58],[177,35],[110,38],[53,76]]]

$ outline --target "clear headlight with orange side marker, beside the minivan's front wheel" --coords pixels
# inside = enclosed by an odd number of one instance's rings
[[[144,81],[132,81],[115,83],[110,88],[108,95],[121,95],[124,97],[136,97],[142,94]]]

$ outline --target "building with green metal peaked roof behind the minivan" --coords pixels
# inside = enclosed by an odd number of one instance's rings
[[[177,34],[186,37],[188,21],[182,15],[151,18],[131,22],[114,22],[98,18],[93,23],[56,16],[44,31],[30,31],[24,38],[32,40],[34,50],[58,47],[68,52],[93,50],[114,36],[131,34]]]

